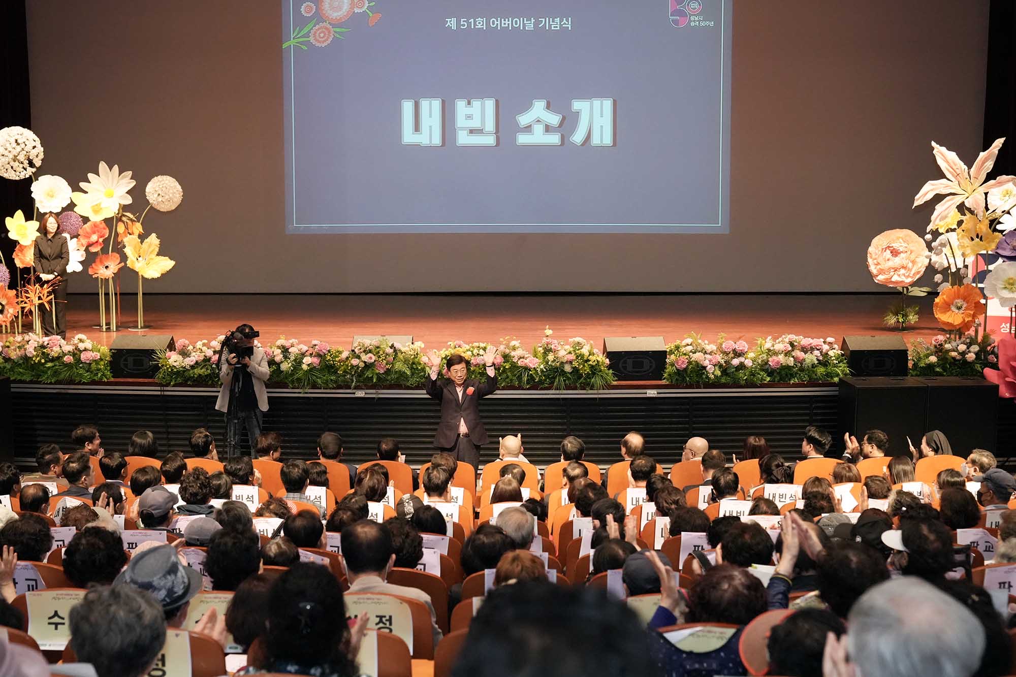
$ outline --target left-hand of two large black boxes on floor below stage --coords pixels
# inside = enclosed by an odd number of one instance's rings
[[[889,455],[909,456],[906,438],[909,437],[914,446],[920,444],[920,437],[927,430],[927,407],[928,384],[919,378],[841,378],[839,430],[833,435],[833,444],[842,453],[843,433],[856,435],[861,442],[865,431],[881,430],[889,436]],[[965,406],[963,411],[966,411]]]

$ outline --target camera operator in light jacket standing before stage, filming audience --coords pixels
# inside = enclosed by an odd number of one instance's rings
[[[215,409],[226,413],[226,445],[230,456],[240,450],[241,426],[246,426],[247,442],[254,446],[261,434],[264,412],[268,411],[268,394],[264,389],[268,380],[268,358],[262,349],[254,346],[259,335],[250,324],[241,324],[227,333],[218,356],[218,378],[223,387]]]

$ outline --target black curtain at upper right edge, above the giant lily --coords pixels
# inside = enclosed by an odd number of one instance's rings
[[[988,24],[988,87],[985,97],[985,144],[1005,136],[995,171],[1016,175],[1016,3],[992,0]]]

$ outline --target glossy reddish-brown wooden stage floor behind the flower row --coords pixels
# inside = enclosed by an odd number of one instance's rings
[[[135,297],[122,295],[119,334],[133,334]],[[71,295],[68,334],[110,344],[114,333],[98,323],[98,296]],[[145,295],[148,333],[177,338],[212,337],[241,322],[261,332],[348,346],[354,334],[412,334],[429,347],[461,340],[500,341],[511,335],[526,348],[550,325],[556,338],[662,335],[670,343],[696,331],[738,340],[793,332],[807,336],[891,333],[881,324],[891,295]],[[910,341],[939,332],[924,299]]]

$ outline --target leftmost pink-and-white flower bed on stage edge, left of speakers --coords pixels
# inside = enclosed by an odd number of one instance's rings
[[[113,378],[110,351],[79,333],[60,336],[19,333],[0,345],[0,376],[15,381],[89,383]]]

